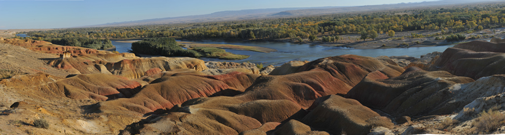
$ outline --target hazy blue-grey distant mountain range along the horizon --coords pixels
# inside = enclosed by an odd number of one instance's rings
[[[107,23],[101,25],[82,26],[82,27],[117,27],[117,26],[137,26],[137,25],[162,25],[176,23],[201,23],[213,21],[233,21],[233,20],[250,20],[264,18],[281,18],[281,17],[299,17],[311,15],[326,15],[339,13],[356,13],[356,12],[371,12],[381,10],[400,10],[409,8],[429,8],[433,6],[448,6],[461,5],[471,3],[490,3],[490,2],[505,2],[505,0],[443,0],[435,2],[421,3],[399,3],[387,5],[372,5],[372,6],[357,6],[357,7],[313,7],[313,8],[278,8],[278,9],[255,9],[255,10],[240,10],[240,11],[222,11],[207,15],[172,17],[148,19],[129,22]],[[78,28],[82,28],[78,27]]]

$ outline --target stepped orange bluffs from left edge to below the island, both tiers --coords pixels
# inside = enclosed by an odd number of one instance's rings
[[[72,74],[105,73],[134,79],[144,76],[146,71],[152,68],[159,68],[162,71],[180,68],[197,71],[207,69],[203,60],[195,58],[139,58],[132,53],[112,53],[82,47],[60,46],[44,41],[7,39],[3,42],[37,52],[59,54],[61,55],[59,59],[46,59],[47,64],[67,70]]]

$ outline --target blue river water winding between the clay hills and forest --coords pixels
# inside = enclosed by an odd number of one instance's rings
[[[293,60],[300,61],[313,61],[319,58],[338,56],[344,54],[354,54],[360,56],[413,56],[421,57],[427,53],[434,51],[443,52],[445,49],[452,47],[454,45],[444,45],[444,46],[433,46],[433,47],[410,47],[410,48],[388,48],[388,49],[349,49],[342,47],[327,47],[318,45],[307,45],[307,44],[293,44],[293,43],[280,43],[280,42],[265,42],[265,41],[191,41],[196,43],[204,44],[232,44],[232,45],[243,45],[243,46],[259,46],[276,49],[277,52],[261,53],[243,50],[231,50],[225,49],[227,52],[234,54],[249,55],[250,57],[243,60],[220,60],[213,58],[200,58],[205,61],[226,61],[226,62],[251,62],[251,63],[263,63],[263,65],[282,65],[286,62]],[[112,44],[116,46],[116,51],[122,53],[127,52],[131,43],[119,43],[112,41]]]

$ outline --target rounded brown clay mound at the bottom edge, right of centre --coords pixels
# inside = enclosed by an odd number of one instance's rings
[[[301,120],[308,125],[332,134],[367,134],[375,126],[391,128],[393,123],[354,99],[338,95],[319,98]]]

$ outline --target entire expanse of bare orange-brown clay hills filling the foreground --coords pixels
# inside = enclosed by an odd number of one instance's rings
[[[341,55],[270,67],[270,75],[43,41],[0,47],[0,134],[504,133],[496,43],[458,45],[406,69],[387,57]]]

